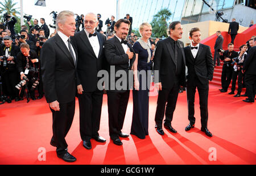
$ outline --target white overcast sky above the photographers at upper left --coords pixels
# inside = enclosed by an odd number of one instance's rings
[[[20,7],[20,0],[15,7]],[[32,18],[39,20],[40,18],[46,19],[46,24],[52,24],[52,16],[49,15],[52,11],[60,12],[69,10],[75,14],[87,14],[93,12],[94,14],[101,14],[101,20],[104,23],[103,30],[106,30],[105,21],[110,19],[112,15],[116,16],[116,0],[46,0],[46,7],[35,6],[36,0],[23,0],[23,15],[32,15]],[[53,29],[51,29],[52,32]]]

